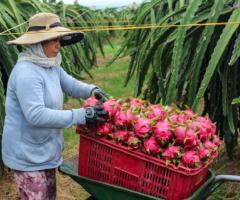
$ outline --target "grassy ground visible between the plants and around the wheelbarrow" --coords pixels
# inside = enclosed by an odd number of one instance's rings
[[[127,70],[129,58],[119,58],[113,65],[105,68],[117,49],[120,47],[121,40],[113,39],[114,49],[109,45],[105,46],[106,58],[98,55],[99,67],[90,72],[94,76],[91,80],[87,74],[82,74],[84,81],[97,83],[105,91],[116,98],[131,96],[134,89],[134,82],[130,81],[126,88],[123,88],[125,73]],[[65,108],[78,108],[80,102],[76,99],[69,99],[65,103]],[[65,150],[64,159],[71,158],[78,152],[78,135],[75,133],[75,127],[64,130]],[[239,152],[239,149],[236,151]],[[218,159],[213,163],[212,169],[216,174],[240,174],[240,154],[235,154],[234,160],[229,161],[224,147]],[[57,173],[57,188],[59,200],[85,200],[89,194],[76,182],[68,176]],[[0,179],[0,200],[17,200],[18,192],[15,189],[11,173],[5,171],[5,175]],[[209,200],[238,200],[240,198],[240,184],[224,184],[209,198]]]

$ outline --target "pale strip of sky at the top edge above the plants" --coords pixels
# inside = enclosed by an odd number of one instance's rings
[[[73,3],[75,0],[63,0],[64,3]],[[142,3],[144,0],[78,0],[80,5],[106,8],[106,7],[121,7],[127,6],[136,2],[137,4]]]

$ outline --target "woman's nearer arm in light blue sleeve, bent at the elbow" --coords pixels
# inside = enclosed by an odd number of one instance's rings
[[[32,126],[66,128],[86,123],[84,108],[54,110],[45,106],[43,78],[36,72],[16,76],[16,95],[25,118]]]

